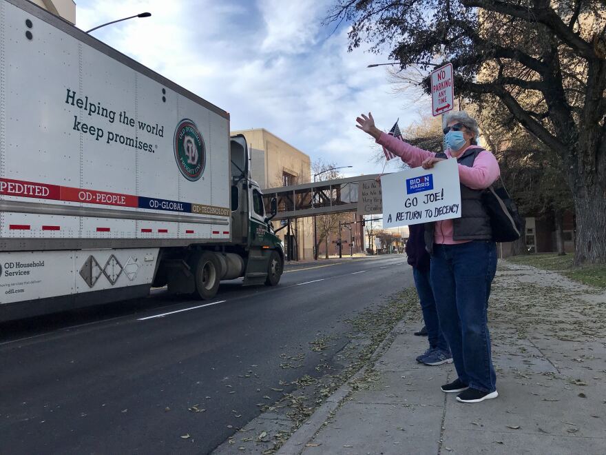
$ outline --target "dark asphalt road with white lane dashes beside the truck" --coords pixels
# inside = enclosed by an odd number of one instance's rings
[[[0,453],[211,452],[279,381],[317,376],[313,356],[288,369],[284,356],[410,285],[405,256],[375,256],[288,267],[277,287],[222,283],[208,302],[160,290],[0,325]]]

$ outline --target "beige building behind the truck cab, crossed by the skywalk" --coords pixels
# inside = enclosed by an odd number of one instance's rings
[[[243,134],[251,149],[251,175],[261,188],[298,185],[311,181],[311,159],[308,154],[294,148],[275,134],[258,128],[232,131]],[[273,223],[280,228],[279,221]],[[291,235],[287,228],[278,232],[284,241],[290,259],[313,259],[313,220],[311,218],[291,221]]]

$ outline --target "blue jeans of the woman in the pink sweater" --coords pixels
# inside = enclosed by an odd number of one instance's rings
[[[497,387],[487,317],[496,272],[497,245],[492,241],[434,244],[431,282],[440,325],[459,379],[483,392]]]

